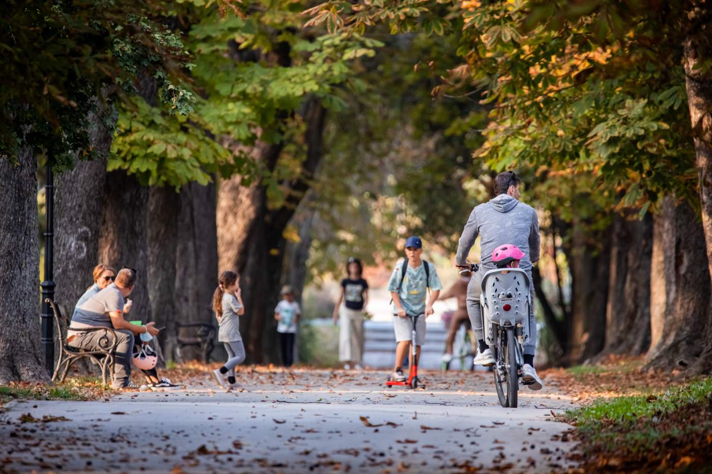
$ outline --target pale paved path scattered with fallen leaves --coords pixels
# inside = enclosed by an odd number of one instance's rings
[[[210,377],[212,375],[210,374]],[[108,401],[11,404],[0,425],[4,470],[244,473],[551,472],[569,464],[571,406],[552,376],[498,405],[491,374],[424,374],[425,390],[384,389],[385,372],[245,368],[244,391],[193,377],[183,391]],[[65,416],[70,421],[22,423]],[[363,418],[362,418],[363,417]],[[367,426],[371,424],[372,426]]]

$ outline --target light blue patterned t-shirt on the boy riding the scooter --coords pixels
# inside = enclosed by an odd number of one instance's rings
[[[400,277],[402,275],[402,265],[408,265],[408,260],[400,260],[396,268],[393,269],[391,279],[388,280],[388,291],[390,292],[398,291],[398,284],[400,283]],[[443,288],[434,265],[428,263],[428,268],[429,285],[425,282],[425,267],[423,263],[421,263],[418,268],[412,268],[408,265],[408,270],[403,278],[403,285],[400,288],[398,296],[401,300],[401,306],[409,315],[419,315],[425,312],[428,286],[430,286],[431,291],[438,291]],[[395,315],[397,313],[398,308],[396,304],[393,303],[393,314]]]

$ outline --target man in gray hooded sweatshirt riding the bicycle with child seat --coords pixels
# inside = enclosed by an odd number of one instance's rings
[[[494,183],[495,198],[480,204],[472,210],[460,237],[455,258],[458,268],[470,268],[467,256],[475,243],[477,236],[481,236],[480,268],[473,274],[467,287],[467,312],[473,330],[477,337],[479,352],[475,357],[475,364],[489,365],[494,363],[491,349],[484,340],[482,329],[482,316],[480,295],[482,293],[482,277],[488,270],[493,270],[496,265],[492,262],[492,252],[498,246],[511,244],[517,246],[524,253],[520,260],[519,268],[525,270],[530,282],[530,300],[534,300],[534,285],[531,268],[539,260],[539,221],[536,211],[524,204],[519,199],[520,179],[514,172],[503,172],[497,175]],[[542,388],[541,379],[534,369],[534,355],[536,352],[536,323],[534,320],[533,305],[530,307],[528,324],[525,325],[528,339],[523,346],[524,367],[522,379],[532,390]]]

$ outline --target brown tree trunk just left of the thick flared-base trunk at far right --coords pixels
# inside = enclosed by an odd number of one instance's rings
[[[650,346],[652,217],[618,215],[611,231],[606,339],[600,355],[639,355]]]

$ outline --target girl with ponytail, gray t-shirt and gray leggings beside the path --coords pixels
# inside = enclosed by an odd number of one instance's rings
[[[242,290],[237,273],[226,271],[220,274],[218,288],[213,295],[213,311],[220,327],[218,341],[222,342],[228,354],[228,361],[223,367],[215,369],[213,374],[221,386],[234,386],[235,367],[245,360],[245,346],[240,335],[240,316],[244,315]],[[227,381],[225,376],[227,374]]]

